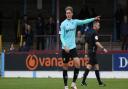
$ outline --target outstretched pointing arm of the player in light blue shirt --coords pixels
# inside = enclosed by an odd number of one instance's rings
[[[95,20],[100,20],[100,16],[97,16],[95,18],[85,19],[85,20],[76,20],[76,23],[77,25],[83,25],[83,24],[91,23]]]

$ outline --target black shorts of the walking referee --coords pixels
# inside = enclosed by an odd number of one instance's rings
[[[98,64],[97,57],[96,57],[96,52],[89,52],[88,57],[89,57],[88,64],[91,64],[91,65]]]

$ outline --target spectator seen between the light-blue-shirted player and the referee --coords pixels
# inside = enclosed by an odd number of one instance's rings
[[[81,31],[77,32],[77,37],[76,37],[76,48],[78,50],[81,50],[84,48],[84,37],[81,35]]]

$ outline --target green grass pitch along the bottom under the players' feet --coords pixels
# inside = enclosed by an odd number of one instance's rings
[[[80,85],[78,89],[128,89],[128,79],[103,79],[105,87],[99,87],[96,79],[87,79],[88,86]],[[68,84],[70,86],[71,79]],[[63,79],[57,78],[0,78],[0,89],[64,89]]]

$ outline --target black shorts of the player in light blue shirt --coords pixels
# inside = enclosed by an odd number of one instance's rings
[[[70,60],[73,60],[74,57],[78,57],[76,48],[71,49],[69,53],[65,52],[65,50],[62,49],[63,63],[68,63]]]

